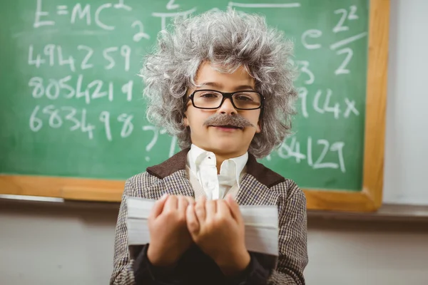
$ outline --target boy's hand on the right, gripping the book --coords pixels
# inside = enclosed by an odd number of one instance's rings
[[[243,217],[230,195],[226,200],[206,201],[202,197],[195,205],[190,204],[186,221],[193,242],[218,264],[223,274],[238,274],[250,264]]]

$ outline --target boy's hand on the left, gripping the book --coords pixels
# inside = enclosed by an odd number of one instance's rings
[[[147,257],[155,266],[173,266],[193,243],[185,222],[191,197],[164,195],[148,217],[150,244]]]

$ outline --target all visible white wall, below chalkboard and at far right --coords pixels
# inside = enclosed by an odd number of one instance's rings
[[[428,1],[391,0],[386,202],[427,202]],[[1,207],[1,285],[108,284],[116,210]],[[309,285],[428,284],[428,225],[311,219]]]

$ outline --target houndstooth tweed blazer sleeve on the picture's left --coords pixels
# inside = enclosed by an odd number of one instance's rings
[[[178,284],[173,272],[153,266],[147,259],[148,245],[128,246],[128,228],[126,226],[126,197],[136,196],[136,186],[130,178],[126,181],[121,207],[119,208],[114,242],[113,273],[111,285],[158,285]]]

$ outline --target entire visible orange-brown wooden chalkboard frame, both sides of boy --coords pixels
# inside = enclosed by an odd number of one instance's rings
[[[372,212],[382,204],[389,0],[371,0],[362,191],[304,189],[308,209]],[[0,175],[6,195],[120,202],[123,180]]]

